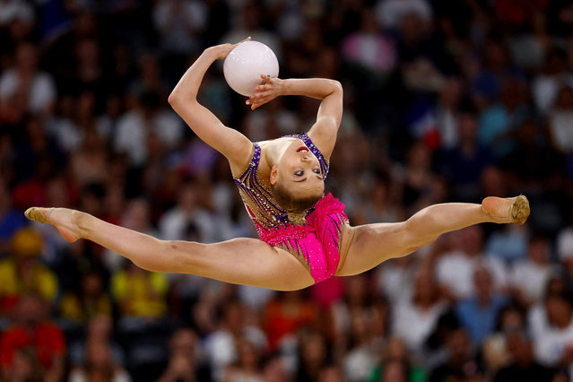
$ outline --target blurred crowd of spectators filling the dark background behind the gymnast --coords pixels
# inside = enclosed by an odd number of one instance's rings
[[[226,161],[167,104],[204,48],[247,36],[282,78],[343,83],[326,189],[353,224],[518,194],[529,221],[292,292],[146,272],[25,221],[254,237]],[[200,101],[227,126],[312,125],[317,100],[251,111],[220,64]],[[573,380],[572,220],[568,0],[0,0],[3,381]]]

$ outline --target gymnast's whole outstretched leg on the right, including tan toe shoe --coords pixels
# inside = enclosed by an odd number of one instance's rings
[[[389,258],[406,256],[433,243],[442,233],[482,222],[523,224],[527,216],[529,202],[525,196],[508,199],[490,196],[482,204],[430,205],[403,222],[346,226],[336,275],[362,273]]]

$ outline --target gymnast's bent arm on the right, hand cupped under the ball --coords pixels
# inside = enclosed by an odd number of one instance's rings
[[[336,133],[343,117],[343,87],[340,82],[326,78],[287,79],[262,76],[265,84],[247,100],[251,109],[256,109],[279,95],[302,95],[322,100],[318,108],[317,122],[310,128],[308,136],[325,156],[330,158],[336,143]]]

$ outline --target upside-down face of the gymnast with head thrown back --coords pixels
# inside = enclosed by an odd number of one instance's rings
[[[295,139],[287,147],[280,161],[271,169],[271,184],[278,182],[295,197],[322,195],[325,192],[320,163],[300,139]]]

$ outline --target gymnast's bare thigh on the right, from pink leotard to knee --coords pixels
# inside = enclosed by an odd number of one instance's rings
[[[404,222],[344,226],[337,276],[366,272],[389,258],[405,256],[417,247]]]

